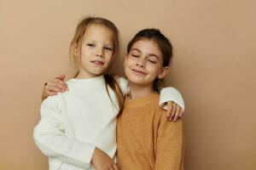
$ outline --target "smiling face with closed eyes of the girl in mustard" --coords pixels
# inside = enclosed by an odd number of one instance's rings
[[[125,57],[125,76],[137,85],[153,86],[155,78],[166,76],[168,67],[163,67],[163,56],[158,44],[149,39],[135,42]]]

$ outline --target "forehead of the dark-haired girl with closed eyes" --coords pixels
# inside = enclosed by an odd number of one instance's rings
[[[143,54],[155,54],[159,57],[162,56],[158,43],[150,39],[138,40],[131,46],[131,50],[133,49],[138,49]]]

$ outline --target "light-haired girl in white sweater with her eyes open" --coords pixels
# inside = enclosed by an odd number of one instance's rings
[[[119,56],[118,32],[102,18],[86,18],[77,27],[70,52],[78,74],[67,81],[66,93],[44,99],[34,129],[35,143],[49,156],[50,170],[118,169],[113,161],[116,116],[129,88],[124,78],[104,75]],[[177,90],[168,90],[168,100],[183,106]],[[166,94],[162,96],[164,103]]]

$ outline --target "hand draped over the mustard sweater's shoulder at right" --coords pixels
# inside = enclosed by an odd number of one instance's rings
[[[179,117],[182,117],[183,109],[173,101],[167,102],[167,117],[169,121],[176,122]]]

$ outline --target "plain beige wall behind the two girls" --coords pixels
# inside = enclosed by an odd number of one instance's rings
[[[43,83],[72,75],[67,57],[84,16],[112,20],[128,40],[158,27],[175,48],[168,85],[186,101],[186,170],[256,169],[255,1],[0,1],[0,169],[43,170],[32,140]],[[122,64],[116,72],[122,72]]]

